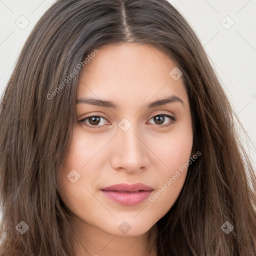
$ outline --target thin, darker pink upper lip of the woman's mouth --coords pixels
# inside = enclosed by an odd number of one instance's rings
[[[138,192],[139,190],[151,191],[151,190],[153,190],[153,188],[150,186],[147,186],[143,183],[134,183],[134,184],[119,183],[119,184],[114,184],[111,186],[103,187],[103,188],[101,188],[101,190]]]

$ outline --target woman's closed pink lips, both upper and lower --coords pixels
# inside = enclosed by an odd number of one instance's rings
[[[100,189],[102,193],[113,201],[122,205],[136,205],[144,201],[153,188],[143,183],[119,183]]]

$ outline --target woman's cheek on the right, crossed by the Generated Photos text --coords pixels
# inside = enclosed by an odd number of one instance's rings
[[[162,167],[158,167],[158,174],[155,176],[158,187],[149,197],[149,201],[161,209],[158,213],[164,215],[169,210],[184,185],[192,142],[193,134],[189,120],[164,138],[158,138],[158,146],[154,147],[154,152],[159,155],[162,162],[159,164]]]

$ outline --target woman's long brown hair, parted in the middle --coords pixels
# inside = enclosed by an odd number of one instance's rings
[[[89,52],[117,42],[146,43],[175,61],[201,153],[157,221],[158,255],[256,255],[256,177],[233,111],[195,33],[166,0],[58,0],[33,28],[1,98],[0,254],[75,255],[57,179],[79,74],[63,81]]]

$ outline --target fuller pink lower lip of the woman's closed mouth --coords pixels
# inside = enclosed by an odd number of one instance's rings
[[[134,193],[118,192],[118,191],[105,191],[105,190],[101,190],[101,191],[108,198],[110,198],[122,205],[138,204],[138,203],[144,201],[152,192],[152,190],[139,191],[139,192],[134,192]]]

